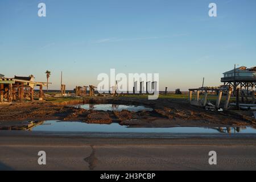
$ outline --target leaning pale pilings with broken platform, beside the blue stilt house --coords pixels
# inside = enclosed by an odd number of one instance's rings
[[[203,106],[205,107],[207,105],[207,97],[208,97],[208,91],[206,88],[199,88],[199,89],[189,89],[189,102],[192,103],[192,92],[196,91],[196,101],[199,104],[200,101],[200,93],[204,92],[204,100],[203,100]],[[224,104],[224,110],[228,109],[229,106],[229,100],[230,97],[232,95],[232,88],[220,88],[218,89],[218,97],[216,100],[216,109],[220,108],[220,102],[221,102],[221,98],[222,98],[222,94],[223,92],[226,92],[226,99],[225,99],[225,104]]]

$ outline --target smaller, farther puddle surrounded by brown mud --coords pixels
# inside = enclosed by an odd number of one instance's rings
[[[121,110],[129,110],[129,111],[141,111],[141,110],[146,110],[146,111],[152,111],[152,108],[146,107],[146,106],[135,106],[135,105],[117,105],[117,104],[84,104],[84,105],[79,105],[76,107],[80,107],[82,109],[87,109],[87,110],[116,110],[116,111],[121,111]]]

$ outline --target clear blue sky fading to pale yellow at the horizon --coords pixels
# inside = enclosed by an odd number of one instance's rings
[[[46,3],[46,17],[38,4]],[[209,3],[217,17],[209,17]],[[0,73],[48,69],[59,89],[97,86],[110,68],[159,73],[160,90],[220,85],[234,64],[256,65],[255,0],[1,0]]]

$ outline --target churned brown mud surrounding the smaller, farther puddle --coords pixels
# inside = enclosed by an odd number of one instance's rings
[[[145,105],[152,111],[96,111],[85,110],[68,105],[73,104],[124,104]],[[71,102],[24,102],[0,105],[0,122],[8,121],[82,121],[87,123],[119,122],[131,127],[171,127],[171,126],[252,126],[255,119],[248,114],[233,111],[207,111],[191,106],[186,100],[159,99],[149,101],[146,98],[133,97],[86,97]]]

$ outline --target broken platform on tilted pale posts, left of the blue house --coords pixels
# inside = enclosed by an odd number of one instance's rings
[[[227,110],[228,106],[229,106],[229,100],[230,100],[230,97],[231,97],[231,94],[232,94],[232,88],[230,88],[229,86],[222,86],[218,89],[208,88],[208,87],[202,87],[202,88],[198,88],[198,89],[189,89],[189,94],[188,94],[189,102],[192,104],[192,96],[193,96],[192,93],[196,92],[196,103],[198,105],[200,105],[200,94],[203,93],[204,94],[204,100],[203,100],[203,105],[202,106],[205,107],[207,105],[208,94],[209,94],[209,92],[212,92],[212,89],[214,89],[214,91],[218,92],[218,97],[217,97],[216,105],[215,105],[216,109],[220,108],[220,102],[221,102],[222,94],[224,92],[226,92],[226,100],[225,100],[225,104],[224,104],[224,110]]]

